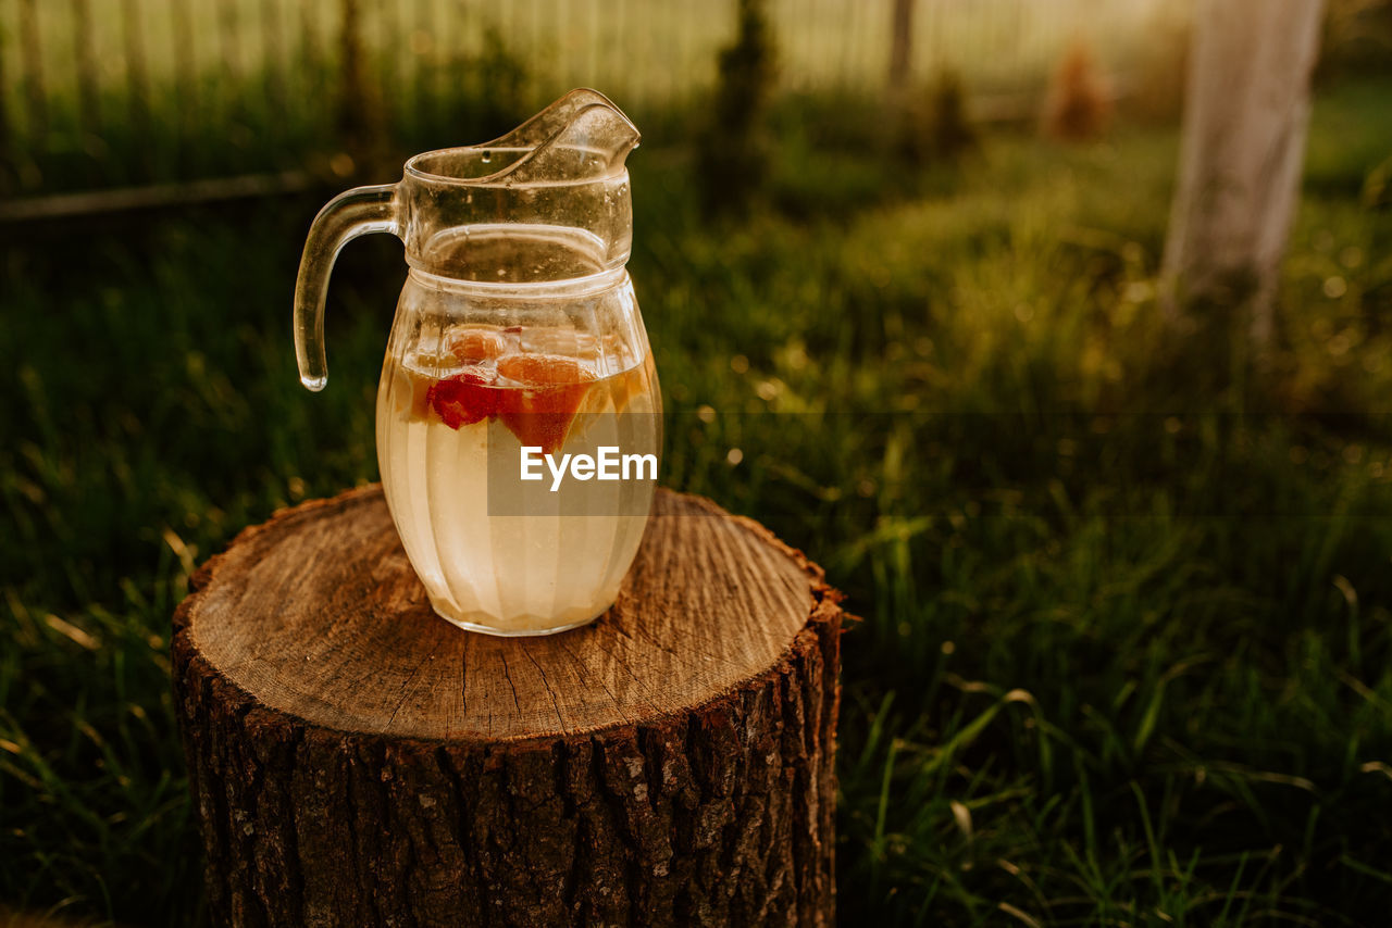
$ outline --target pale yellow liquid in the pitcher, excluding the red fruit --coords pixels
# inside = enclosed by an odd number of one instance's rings
[[[422,409],[422,383],[450,376],[408,358],[387,359],[377,392],[377,461],[401,541],[430,602],[445,619],[491,634],[544,634],[601,615],[638,551],[653,483],[578,484],[541,494],[554,512],[489,515],[487,467],[518,462],[521,441],[489,420],[451,429]],[[561,454],[658,454],[657,385],[650,359],[590,384]],[[625,415],[646,413],[646,415]],[[500,448],[497,442],[503,442]],[[516,466],[516,463],[514,463]],[[546,486],[551,474],[541,466]],[[585,515],[560,515],[583,493]],[[507,502],[507,501],[504,501]],[[518,512],[519,506],[494,509]],[[625,515],[618,515],[625,513]],[[643,515],[633,515],[643,513]]]

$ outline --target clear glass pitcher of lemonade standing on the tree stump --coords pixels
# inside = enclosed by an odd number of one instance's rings
[[[661,445],[625,270],[638,141],[603,95],[572,90],[500,139],[418,154],[401,182],[341,193],[309,230],[295,353],[316,391],[338,250],[365,232],[405,242],[377,462],[434,611],[465,629],[590,622],[638,552]]]

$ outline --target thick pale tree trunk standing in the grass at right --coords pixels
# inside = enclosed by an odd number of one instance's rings
[[[1295,216],[1322,0],[1199,0],[1179,184],[1165,243],[1171,312],[1250,307],[1271,341]]]

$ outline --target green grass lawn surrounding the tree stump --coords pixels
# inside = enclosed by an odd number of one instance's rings
[[[720,223],[686,152],[633,156],[667,480],[863,616],[848,924],[1385,924],[1392,214],[1359,196],[1388,95],[1320,100],[1282,348],[1242,377],[1158,323],[1172,131],[987,138],[910,175],[795,146],[784,211]],[[170,614],[238,529],[376,474],[400,246],[345,252],[308,394],[288,310],[316,206],[0,257],[8,904],[200,911]]]

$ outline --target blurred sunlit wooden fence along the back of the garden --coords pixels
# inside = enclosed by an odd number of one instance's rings
[[[895,3],[770,0],[782,86],[877,92]],[[1073,38],[1121,64],[1176,3],[909,6],[912,79],[952,68],[969,92],[1019,93]],[[734,11],[734,0],[0,0],[0,193],[295,167],[352,120],[348,92],[408,141],[465,141],[469,111],[528,111],[579,85],[639,114],[677,107],[714,79]]]

